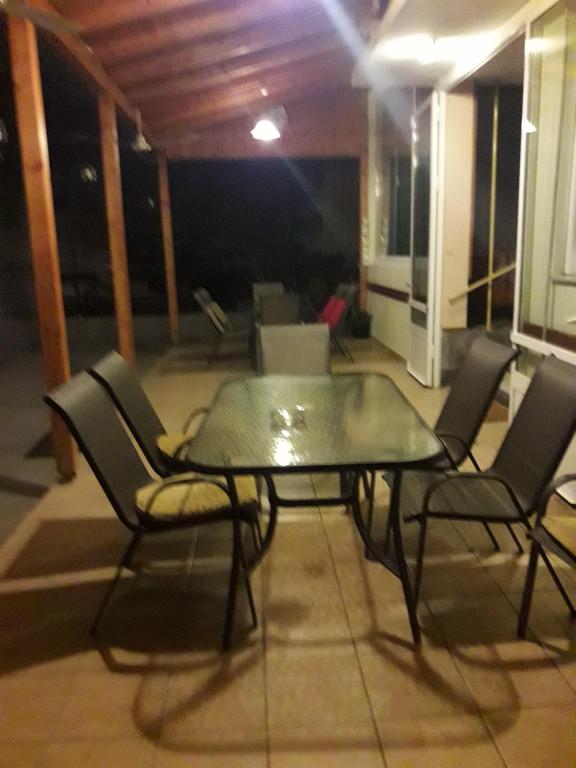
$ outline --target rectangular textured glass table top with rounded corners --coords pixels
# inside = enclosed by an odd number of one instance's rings
[[[411,466],[442,450],[386,376],[261,376],[220,388],[186,458],[205,471],[293,472]]]

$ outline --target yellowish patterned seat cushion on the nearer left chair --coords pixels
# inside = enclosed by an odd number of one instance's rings
[[[168,483],[156,481],[148,483],[136,491],[136,507],[139,512],[151,515],[152,517],[181,517],[183,515],[209,515],[215,512],[223,511],[230,507],[230,499],[217,485],[211,481],[218,481],[226,484],[221,477],[207,478],[205,483],[193,483],[190,485],[170,485],[174,480],[193,480],[198,475],[189,472],[183,475],[172,477]],[[236,490],[238,501],[241,506],[255,504],[258,499],[256,490],[256,481],[253,477],[236,478]],[[153,495],[166,485],[166,490],[158,494],[152,501],[152,506],[148,509]]]

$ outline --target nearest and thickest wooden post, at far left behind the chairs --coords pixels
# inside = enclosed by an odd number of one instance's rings
[[[44,381],[50,390],[70,378],[70,359],[38,42],[30,22],[10,15],[7,21]],[[74,444],[56,415],[52,416],[52,438],[58,472],[68,479],[75,470]]]

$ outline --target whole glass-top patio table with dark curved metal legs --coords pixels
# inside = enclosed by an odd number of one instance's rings
[[[270,519],[253,567],[270,546],[279,507],[351,505],[367,552],[402,581],[414,641],[420,639],[410,574],[402,543],[399,499],[402,470],[425,466],[443,452],[441,442],[391,379],[378,374],[261,376],[222,385],[186,463],[223,475],[237,503],[234,477],[258,475],[269,492]],[[372,540],[361,513],[360,483],[367,471],[392,472],[389,530],[393,554]],[[352,476],[329,499],[281,499],[274,476],[338,472]]]

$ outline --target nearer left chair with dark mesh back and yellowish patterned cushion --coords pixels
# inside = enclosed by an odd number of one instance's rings
[[[132,533],[91,632],[98,631],[122,570],[132,566],[134,553],[144,536],[225,520],[230,521],[233,528],[233,547],[223,647],[230,645],[240,576],[246,585],[256,625],[242,529],[243,523],[254,525],[257,513],[254,480],[238,478],[234,487],[229,487],[221,478],[193,473],[152,480],[112,401],[88,373],[77,374],[46,395],[45,401],[70,429],[118,519]],[[233,494],[237,495],[237,511],[232,508]]]

